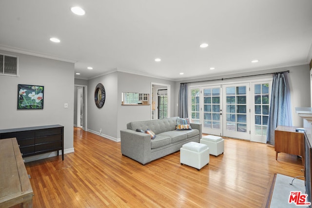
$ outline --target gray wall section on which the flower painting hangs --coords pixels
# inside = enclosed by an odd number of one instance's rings
[[[0,76],[0,129],[59,124],[64,126],[64,149],[74,151],[74,63],[0,53],[20,58],[19,77]],[[17,110],[18,84],[44,86],[43,110]],[[64,108],[64,103],[68,103],[68,108]]]

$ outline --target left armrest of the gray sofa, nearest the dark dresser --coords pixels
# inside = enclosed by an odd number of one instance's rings
[[[150,162],[151,135],[133,130],[120,131],[121,153],[143,165]]]

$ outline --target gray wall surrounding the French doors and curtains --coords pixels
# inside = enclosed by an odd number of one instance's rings
[[[290,84],[291,99],[292,99],[292,122],[294,126],[303,127],[303,119],[299,117],[297,113],[295,113],[295,107],[310,107],[310,69],[309,69],[308,64],[300,65],[300,66],[293,66],[293,67],[277,68],[277,69],[271,69],[271,70],[265,70],[265,71],[258,71],[258,72],[252,72],[252,73],[215,76],[215,77],[209,77],[209,78],[178,81],[176,82],[176,92],[174,93],[176,105],[178,103],[178,93],[179,93],[179,87],[180,87],[181,82],[203,81],[200,83],[202,84],[204,83],[225,84],[231,81],[244,81],[244,80],[255,80],[259,78],[267,78],[267,77],[272,77],[272,75],[228,79],[228,80],[223,80],[223,81],[218,80],[218,81],[212,81],[212,82],[204,82],[204,80],[237,77],[237,76],[247,76],[247,75],[258,75],[258,74],[273,73],[273,72],[280,72],[280,71],[287,71],[287,70],[290,71],[288,77],[289,77],[289,82],[290,82],[289,84]],[[196,84],[200,84],[200,83],[196,83]],[[177,114],[177,108],[176,108],[175,113]]]

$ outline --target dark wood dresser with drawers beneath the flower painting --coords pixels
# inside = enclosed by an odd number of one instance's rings
[[[64,160],[64,127],[61,125],[0,130],[0,139],[16,137],[22,157],[51,151],[62,151]]]

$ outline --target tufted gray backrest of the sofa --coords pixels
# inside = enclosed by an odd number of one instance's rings
[[[136,131],[141,129],[143,131],[150,129],[154,133],[162,133],[176,130],[176,118],[163,118],[149,121],[134,121],[127,124],[127,129]]]

